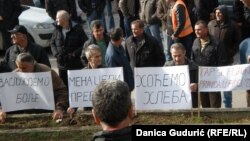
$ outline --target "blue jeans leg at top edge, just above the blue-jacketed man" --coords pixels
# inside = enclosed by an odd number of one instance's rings
[[[112,4],[110,0],[106,0],[106,7],[105,10],[107,10],[107,21],[108,21],[108,26],[106,27],[107,29],[112,29],[115,28],[115,21],[114,21],[114,16],[112,12]]]

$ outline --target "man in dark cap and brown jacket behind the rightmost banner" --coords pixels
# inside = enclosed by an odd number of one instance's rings
[[[241,33],[237,23],[230,19],[225,5],[215,9],[215,19],[208,23],[208,30],[217,44],[217,66],[232,65],[239,51]],[[225,107],[232,108],[232,91],[223,94]]]

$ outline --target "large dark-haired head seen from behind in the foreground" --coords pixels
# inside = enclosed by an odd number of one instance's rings
[[[127,83],[120,80],[102,81],[93,93],[93,116],[96,122],[116,127],[132,119],[131,93]],[[127,122],[127,124],[129,124]]]

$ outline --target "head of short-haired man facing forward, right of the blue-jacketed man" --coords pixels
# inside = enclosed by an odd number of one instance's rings
[[[131,23],[131,29],[134,37],[143,36],[144,32],[144,23],[142,20],[135,20]]]

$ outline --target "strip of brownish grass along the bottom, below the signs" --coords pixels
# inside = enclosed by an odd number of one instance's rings
[[[90,113],[78,113],[75,124],[66,117],[55,123],[51,116],[32,115],[8,117],[0,124],[0,141],[89,141],[93,133],[100,131]],[[138,113],[134,125],[179,124],[250,124],[250,110],[205,110],[197,112]]]

